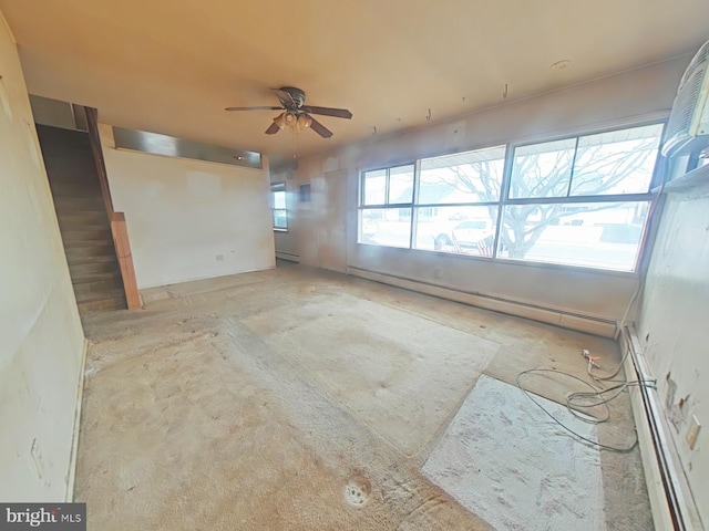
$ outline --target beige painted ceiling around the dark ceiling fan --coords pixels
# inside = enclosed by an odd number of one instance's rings
[[[0,0],[29,91],[102,122],[291,157],[268,87],[347,107],[299,154],[696,51],[708,0]],[[564,70],[552,63],[569,60]]]

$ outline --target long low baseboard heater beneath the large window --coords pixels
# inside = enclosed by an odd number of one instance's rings
[[[383,284],[395,285],[397,288],[403,288],[419,293],[425,293],[428,295],[439,296],[441,299],[448,299],[450,301],[462,302],[463,304],[470,304],[471,306],[483,308],[494,312],[507,313],[520,317],[531,319],[533,321],[540,321],[542,323],[554,324],[556,326],[563,326],[565,329],[572,329],[588,334],[600,335],[604,337],[614,337],[616,334],[616,323],[614,321],[573,314],[551,308],[534,306],[523,302],[511,301],[481,293],[470,293],[361,268],[348,267],[347,274],[373,280]]]

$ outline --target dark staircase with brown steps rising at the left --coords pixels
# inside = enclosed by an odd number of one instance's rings
[[[89,134],[37,126],[79,312],[126,309]]]

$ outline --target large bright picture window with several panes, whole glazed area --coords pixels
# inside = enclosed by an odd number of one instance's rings
[[[661,134],[643,125],[364,171],[358,241],[634,271]]]

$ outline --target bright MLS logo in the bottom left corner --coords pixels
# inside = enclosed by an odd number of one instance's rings
[[[0,531],[86,531],[85,503],[0,503]]]

